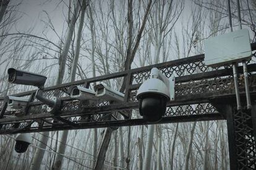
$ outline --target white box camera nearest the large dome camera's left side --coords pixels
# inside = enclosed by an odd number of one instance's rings
[[[113,102],[124,102],[124,94],[108,87],[105,83],[94,86],[95,96]]]

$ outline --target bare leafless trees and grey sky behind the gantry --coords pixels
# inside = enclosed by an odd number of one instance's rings
[[[9,84],[10,67],[43,74],[46,86],[53,86],[203,54],[204,39],[229,32],[226,0],[5,2],[1,96],[34,89]],[[234,0],[231,10],[238,30]],[[241,0],[241,17],[255,41],[255,0]],[[125,89],[120,79],[106,83]],[[226,121],[31,135],[32,146],[23,154],[14,151],[15,135],[0,136],[0,169],[229,169]]]

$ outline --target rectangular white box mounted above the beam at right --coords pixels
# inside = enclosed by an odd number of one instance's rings
[[[205,40],[205,65],[221,67],[252,58],[249,31],[242,29]]]

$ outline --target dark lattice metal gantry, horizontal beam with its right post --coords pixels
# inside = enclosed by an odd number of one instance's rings
[[[228,125],[229,158],[231,169],[255,169],[256,167],[256,64],[249,63],[249,90],[252,109],[246,106],[242,66],[239,73],[239,93],[242,110],[236,109],[233,69],[210,68],[203,63],[204,55],[196,55],[147,67],[121,71],[105,76],[83,79],[73,83],[47,87],[43,95],[51,99],[58,96],[61,110],[58,115],[48,113],[46,105],[35,99],[36,91],[23,92],[15,96],[30,97],[25,109],[10,110],[7,100],[0,98],[0,134],[24,132],[59,131],[98,127],[135,126],[147,123],[139,115],[136,92],[153,67],[160,69],[166,77],[176,77],[174,102],[168,103],[164,118],[158,123],[210,121],[226,119]],[[67,89],[72,85],[89,87],[98,81],[122,81],[126,77],[125,100],[111,103],[105,100],[86,103],[72,99]]]

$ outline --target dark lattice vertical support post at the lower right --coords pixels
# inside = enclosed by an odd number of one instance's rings
[[[213,105],[226,116],[230,169],[255,169],[256,103],[252,105],[252,110],[244,107],[236,110],[233,104]]]

